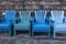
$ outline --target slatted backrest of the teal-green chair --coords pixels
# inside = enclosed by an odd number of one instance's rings
[[[19,11],[21,22],[29,22],[31,18],[31,11]]]

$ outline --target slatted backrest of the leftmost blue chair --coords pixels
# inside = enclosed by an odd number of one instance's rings
[[[14,10],[6,10],[4,11],[4,18],[6,21],[9,22],[10,20],[13,20],[15,16],[15,11]]]

